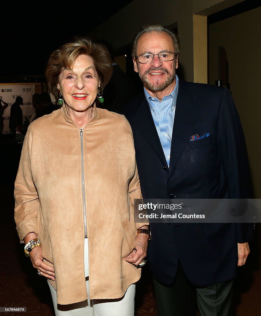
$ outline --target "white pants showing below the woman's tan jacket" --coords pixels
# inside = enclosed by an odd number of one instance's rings
[[[55,316],[133,316],[135,284],[131,284],[125,295],[113,300],[86,300],[79,303],[57,304],[56,290],[47,282],[51,291]],[[89,278],[86,278],[89,297]]]

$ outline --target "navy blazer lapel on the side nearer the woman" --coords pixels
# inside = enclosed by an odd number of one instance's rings
[[[131,119],[137,125],[139,131],[143,134],[149,145],[155,151],[156,155],[162,161],[163,165],[168,167],[164,151],[161,146],[161,141],[151,115],[149,104],[145,97],[143,97],[140,104],[140,107]]]

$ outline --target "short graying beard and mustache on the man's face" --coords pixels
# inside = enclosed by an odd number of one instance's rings
[[[167,79],[165,80],[165,82],[156,81],[156,83],[152,84],[151,82],[149,82],[146,75],[149,75],[149,73],[151,71],[158,71],[158,70],[164,72],[167,75]],[[142,74],[142,76],[139,73],[141,81],[143,82],[143,86],[151,92],[159,92],[159,91],[166,89],[175,80],[175,75],[176,75],[175,68],[174,68],[174,72],[171,73],[169,70],[167,70],[166,68],[162,68],[162,67],[160,67],[160,68],[152,67],[152,68],[146,70]]]

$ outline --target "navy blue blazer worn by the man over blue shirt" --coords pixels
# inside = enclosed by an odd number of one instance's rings
[[[134,137],[144,199],[252,198],[245,137],[227,88],[179,80],[170,165],[144,93],[124,108]],[[194,134],[209,137],[190,142]],[[252,238],[252,224],[150,223],[148,263],[163,285],[174,281],[178,259],[188,279],[207,286],[237,272],[237,243]]]

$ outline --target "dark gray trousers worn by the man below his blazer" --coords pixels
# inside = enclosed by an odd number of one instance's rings
[[[179,264],[173,286],[166,287],[155,279],[157,316],[230,316],[233,282],[229,280],[207,287],[193,286]]]

